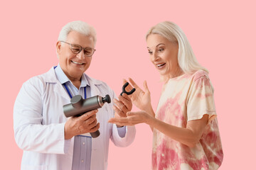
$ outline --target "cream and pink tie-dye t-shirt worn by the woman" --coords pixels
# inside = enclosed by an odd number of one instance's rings
[[[201,140],[191,148],[154,129],[152,169],[218,169],[223,149],[215,113],[213,86],[202,70],[169,79],[159,100],[156,118],[186,128],[187,122],[208,114]]]

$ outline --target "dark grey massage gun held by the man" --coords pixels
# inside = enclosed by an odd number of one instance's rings
[[[63,111],[66,118],[70,116],[80,116],[87,113],[88,111],[102,108],[106,102],[111,102],[110,95],[108,94],[105,96],[105,98],[102,96],[93,96],[85,99],[83,99],[80,95],[76,95],[71,98],[69,104],[63,106]],[[100,136],[100,131],[97,130],[96,132],[90,132],[90,135],[93,138],[98,137]]]

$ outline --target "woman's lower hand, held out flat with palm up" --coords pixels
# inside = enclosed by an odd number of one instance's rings
[[[120,126],[137,125],[139,123],[149,124],[153,117],[145,111],[127,112],[127,118],[111,118],[109,123],[115,123]]]

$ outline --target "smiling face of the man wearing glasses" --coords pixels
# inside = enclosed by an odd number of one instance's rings
[[[82,35],[74,30],[68,33],[65,42],[80,45],[81,47],[94,48],[94,42],[91,36]],[[70,45],[65,42],[57,42],[60,67],[71,81],[80,80],[82,74],[90,67],[92,57],[87,57],[84,54],[84,50],[78,54],[74,54],[70,50]]]

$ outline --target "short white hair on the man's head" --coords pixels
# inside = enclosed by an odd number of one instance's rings
[[[90,26],[89,24],[83,21],[72,21],[67,23],[63,28],[60,30],[60,34],[58,36],[58,41],[66,41],[68,37],[68,33],[70,31],[75,30],[78,33],[83,35],[92,36],[94,45],[96,44],[96,31],[95,28]]]

